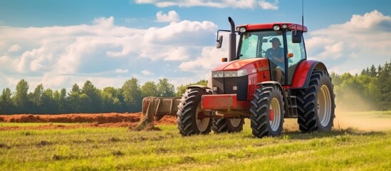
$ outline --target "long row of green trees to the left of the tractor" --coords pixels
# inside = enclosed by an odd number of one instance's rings
[[[206,86],[207,81],[199,81]],[[28,82],[19,81],[15,91],[4,88],[0,95],[0,114],[61,114],[61,113],[125,113],[140,112],[142,98],[147,96],[172,97],[182,95],[185,85],[174,91],[174,85],[167,78],[157,83],[147,81],[140,86],[137,78],[125,81],[121,88],[106,87],[100,90],[91,81],[85,81],[80,88],[73,84],[66,88],[52,90],[42,84],[29,92]]]

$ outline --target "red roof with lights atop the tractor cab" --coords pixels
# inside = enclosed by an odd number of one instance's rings
[[[251,30],[269,30],[273,29],[273,26],[280,26],[280,28],[283,28],[283,24],[286,24],[288,26],[288,30],[298,30],[307,32],[308,29],[306,26],[302,26],[301,24],[293,24],[293,23],[269,23],[269,24],[245,24],[241,26],[237,26],[236,30],[239,30],[241,27],[246,27],[247,31]]]

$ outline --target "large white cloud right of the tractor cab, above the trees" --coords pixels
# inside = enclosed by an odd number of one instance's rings
[[[310,31],[308,58],[324,61],[338,73],[356,72],[390,61],[391,17],[377,10],[355,14],[344,24]],[[338,68],[338,69],[335,69]]]

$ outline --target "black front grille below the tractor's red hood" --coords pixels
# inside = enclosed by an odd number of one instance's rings
[[[212,86],[217,87],[214,94],[236,94],[238,100],[247,99],[247,87],[249,86],[248,76],[234,78],[213,78]],[[238,90],[233,90],[237,86]]]

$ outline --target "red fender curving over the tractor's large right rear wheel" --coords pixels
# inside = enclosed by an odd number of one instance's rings
[[[304,60],[298,64],[292,79],[292,89],[307,88],[314,69],[327,71],[325,64],[319,61]]]

